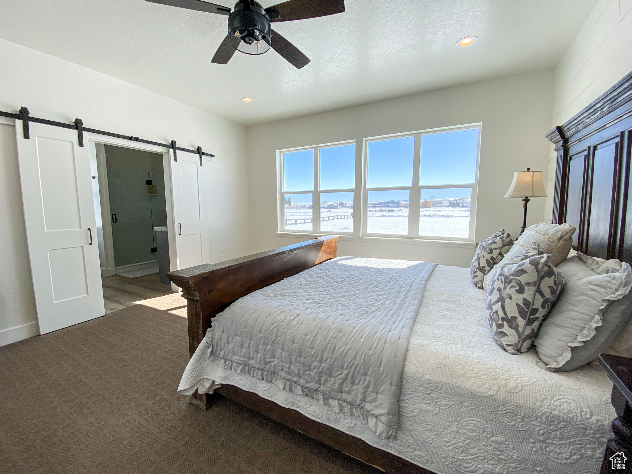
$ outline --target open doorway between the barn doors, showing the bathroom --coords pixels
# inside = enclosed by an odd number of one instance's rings
[[[106,313],[171,293],[164,156],[90,142]]]

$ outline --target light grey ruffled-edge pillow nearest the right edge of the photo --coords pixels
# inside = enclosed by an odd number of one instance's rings
[[[609,349],[629,324],[632,270],[625,262],[583,253],[557,269],[566,285],[534,344],[542,367],[566,372]]]

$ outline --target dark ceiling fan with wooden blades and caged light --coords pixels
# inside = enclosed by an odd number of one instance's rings
[[[228,35],[217,48],[211,60],[212,63],[227,64],[235,51],[246,54],[264,54],[271,47],[298,69],[307,65],[310,59],[278,32],[272,30],[270,23],[305,20],[335,15],[344,11],[344,0],[289,0],[268,8],[263,8],[255,0],[239,0],[232,12],[226,6],[202,0],[146,1],[228,15]]]

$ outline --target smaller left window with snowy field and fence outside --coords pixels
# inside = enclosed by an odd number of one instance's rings
[[[353,234],[355,143],[280,153],[279,228],[298,233]]]

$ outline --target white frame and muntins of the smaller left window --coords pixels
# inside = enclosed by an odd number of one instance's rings
[[[320,232],[320,193],[353,193],[354,198],[356,196],[355,186],[353,188],[348,189],[334,189],[334,190],[321,190],[320,189],[320,154],[319,150],[331,147],[339,147],[341,145],[356,145],[356,140],[346,140],[344,142],[335,142],[335,143],[325,143],[324,145],[313,145],[311,147],[299,147],[299,148],[291,148],[286,150],[277,150],[277,217],[278,217],[278,231],[279,233],[291,233],[291,234],[307,234],[307,235],[325,235]],[[312,150],[313,149],[313,163],[314,163],[314,182],[313,182],[313,190],[303,190],[303,191],[284,191],[283,190],[283,154],[288,152],[298,152],[301,150]],[[356,153],[357,156],[357,153]],[[355,169],[355,167],[354,167]],[[354,177],[354,183],[357,180]],[[311,231],[303,231],[299,229],[286,229],[285,228],[285,197],[291,196],[293,194],[312,194],[312,230]],[[355,212],[357,209],[357,203],[354,199],[353,201],[353,215],[355,216]],[[356,221],[355,217],[353,221]],[[340,236],[353,236],[355,235],[356,226],[353,226],[353,232],[336,232],[336,231],[327,231],[327,235],[340,235]]]

